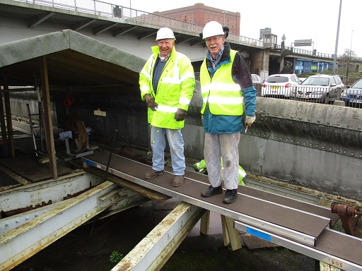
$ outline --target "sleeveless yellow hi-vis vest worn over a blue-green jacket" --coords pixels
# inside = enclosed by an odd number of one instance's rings
[[[236,52],[230,50],[230,61],[227,64],[222,64],[215,71],[212,79],[206,67],[206,59],[202,63],[200,71],[202,114],[204,114],[206,104],[208,104],[210,113],[214,115],[243,115],[243,92],[240,85],[235,83],[231,76],[231,66]]]

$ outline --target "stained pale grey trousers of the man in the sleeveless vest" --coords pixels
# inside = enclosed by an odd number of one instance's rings
[[[240,133],[205,133],[204,159],[211,186],[238,188]],[[223,174],[221,172],[223,159]]]

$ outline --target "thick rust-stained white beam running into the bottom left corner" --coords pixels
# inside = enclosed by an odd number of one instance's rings
[[[144,197],[105,181],[81,195],[54,204],[54,209],[0,236],[0,270],[11,270],[103,210],[119,205],[138,205]]]

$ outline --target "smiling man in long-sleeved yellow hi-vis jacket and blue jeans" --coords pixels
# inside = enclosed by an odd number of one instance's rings
[[[184,127],[189,102],[194,93],[194,68],[185,54],[176,52],[175,35],[170,28],[160,28],[157,46],[139,74],[141,98],[148,106],[151,124],[152,170],[145,179],[163,174],[165,135],[170,145],[173,186],[181,186],[185,175]]]

